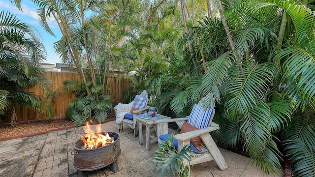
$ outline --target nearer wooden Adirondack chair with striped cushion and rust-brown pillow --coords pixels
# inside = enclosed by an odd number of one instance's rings
[[[177,151],[181,151],[186,145],[192,146],[190,150],[195,154],[189,154],[191,156],[190,165],[215,160],[220,170],[223,171],[227,168],[227,164],[210,135],[210,132],[220,128],[217,123],[212,122],[214,114],[214,108],[204,109],[199,103],[193,106],[188,118],[155,120],[160,135],[158,142],[162,143],[161,140],[167,140],[171,136],[171,134],[167,134],[168,128],[165,122],[175,121],[181,128],[181,132],[174,136],[173,146],[177,148]]]

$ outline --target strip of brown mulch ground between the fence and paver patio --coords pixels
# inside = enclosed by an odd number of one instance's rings
[[[115,119],[115,111],[112,110],[107,119]],[[28,133],[35,133],[47,131],[53,128],[67,127],[75,125],[70,120],[65,118],[57,118],[51,120],[35,121],[31,123],[17,122],[15,127],[8,123],[0,124],[0,137],[23,135]]]

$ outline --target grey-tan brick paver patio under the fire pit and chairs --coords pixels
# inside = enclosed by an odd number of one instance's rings
[[[91,127],[95,128],[95,125],[91,125]],[[102,130],[118,132],[118,125],[115,121],[103,123]],[[119,134],[122,152],[118,158],[120,170],[114,173],[109,167],[104,167],[88,172],[88,177],[158,177],[159,172],[153,172],[156,163],[151,161],[154,151],[158,148],[158,143],[152,144],[151,150],[147,151],[145,145],[139,145],[138,137],[133,137],[133,130],[128,126],[124,126],[124,131]],[[3,141],[0,142],[0,158],[1,154],[3,157],[8,153],[28,154],[32,160],[28,160],[28,164],[24,164],[26,169],[24,172],[19,172],[21,177],[31,176],[31,174],[33,177],[77,177],[77,170],[73,167],[74,156],[71,155],[71,151],[73,143],[83,135],[84,130],[79,127]],[[14,141],[19,141],[25,147],[29,147],[29,151],[21,150],[21,146],[13,148],[13,150],[4,148],[16,144]],[[250,158],[222,148],[220,150],[228,164],[228,169],[221,171],[214,161],[206,162],[191,167],[192,177],[273,177],[273,175],[264,174],[255,165],[252,165]],[[9,161],[8,158],[6,160]],[[7,169],[9,168],[0,168],[0,172]],[[167,177],[167,174],[164,176]],[[279,174],[277,177],[283,176],[283,174]]]

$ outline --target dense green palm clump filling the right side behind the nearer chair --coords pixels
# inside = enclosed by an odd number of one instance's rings
[[[228,35],[221,35],[223,24],[216,19],[204,19],[183,35],[180,46],[197,43],[209,51],[207,70],[189,78],[190,87],[174,97],[171,108],[213,96],[214,121],[221,127],[214,137],[221,146],[241,142],[265,173],[278,173],[287,156],[296,176],[314,176],[313,12],[281,0],[223,1],[223,7],[235,51],[218,42]]]

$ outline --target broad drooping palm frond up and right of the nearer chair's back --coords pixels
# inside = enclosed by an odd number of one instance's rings
[[[243,71],[234,73],[235,77],[230,78],[235,81],[230,82],[227,96],[224,97],[226,110],[232,119],[246,115],[249,109],[263,102],[273,80],[274,67],[271,63],[244,62],[243,66]]]

